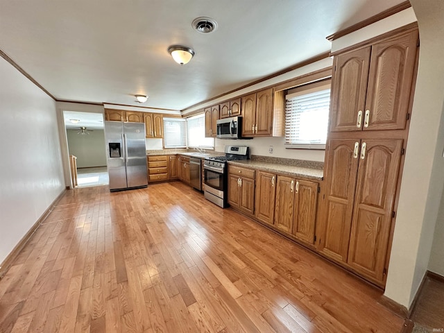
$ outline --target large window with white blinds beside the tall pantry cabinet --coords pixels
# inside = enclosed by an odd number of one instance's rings
[[[330,80],[291,89],[285,105],[285,148],[325,149]]]

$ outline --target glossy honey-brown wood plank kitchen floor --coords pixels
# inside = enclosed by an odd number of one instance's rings
[[[400,332],[380,296],[180,182],[89,187],[0,280],[0,332]]]

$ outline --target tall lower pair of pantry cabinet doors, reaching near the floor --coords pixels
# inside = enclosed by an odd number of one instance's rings
[[[321,253],[384,280],[403,139],[330,139]]]

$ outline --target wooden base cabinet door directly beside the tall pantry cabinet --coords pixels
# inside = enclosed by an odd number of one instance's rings
[[[298,191],[294,205],[293,234],[301,241],[314,244],[316,204],[318,184],[307,180],[297,180]]]

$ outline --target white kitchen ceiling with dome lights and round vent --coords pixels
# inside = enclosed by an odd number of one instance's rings
[[[0,49],[58,100],[182,110],[330,50],[402,0],[0,0]],[[196,17],[219,28],[194,31]],[[182,67],[167,52],[190,46]]]

